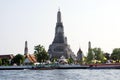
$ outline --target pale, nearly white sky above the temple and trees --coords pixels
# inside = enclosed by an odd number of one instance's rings
[[[89,41],[108,53],[120,48],[120,0],[0,0],[0,55],[24,54],[26,40],[30,54],[39,44],[47,51],[59,8],[75,54],[86,55]]]

